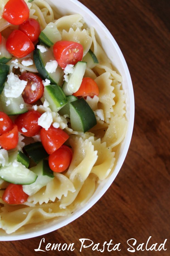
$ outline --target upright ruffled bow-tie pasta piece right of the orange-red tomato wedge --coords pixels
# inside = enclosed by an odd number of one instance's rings
[[[104,121],[110,122],[111,113],[113,112],[113,105],[115,105],[113,93],[114,87],[111,85],[112,80],[110,79],[111,73],[105,72],[95,79],[99,87],[99,103],[98,108],[104,111]]]

